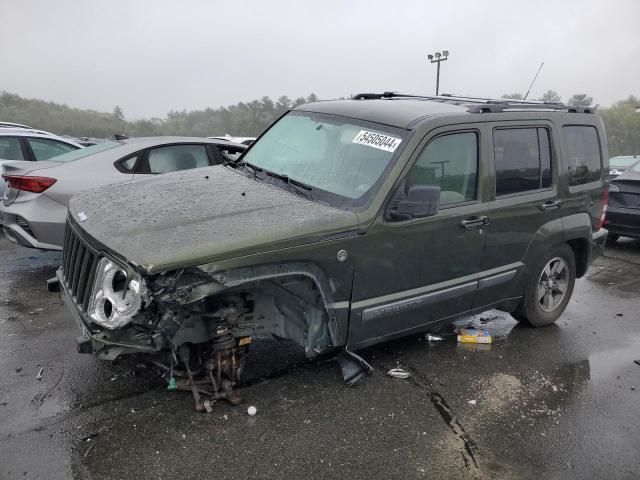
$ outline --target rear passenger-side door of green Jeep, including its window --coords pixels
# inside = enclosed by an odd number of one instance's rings
[[[558,138],[551,123],[495,123],[489,140],[495,196],[474,308],[518,296],[512,280],[523,269],[529,246],[536,235],[545,235],[545,224],[561,222],[565,209],[557,179]]]

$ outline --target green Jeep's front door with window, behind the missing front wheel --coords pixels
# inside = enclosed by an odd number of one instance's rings
[[[450,127],[430,135],[398,182],[440,187],[439,211],[390,221],[381,214],[359,241],[349,345],[424,330],[471,309],[485,242],[481,134]]]

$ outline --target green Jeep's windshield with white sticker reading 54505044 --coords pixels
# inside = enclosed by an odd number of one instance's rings
[[[334,115],[291,112],[243,156],[243,165],[275,173],[334,206],[358,207],[375,193],[406,132]]]

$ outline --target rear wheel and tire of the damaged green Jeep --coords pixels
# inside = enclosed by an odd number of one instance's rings
[[[573,250],[566,243],[556,245],[531,269],[524,296],[511,315],[532,327],[551,325],[567,307],[575,282]]]

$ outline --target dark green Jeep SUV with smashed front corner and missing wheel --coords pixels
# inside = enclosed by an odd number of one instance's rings
[[[368,367],[353,350],[461,315],[554,322],[606,240],[607,158],[589,108],[307,104],[237,161],[74,197],[50,289],[80,351],[156,354],[198,409],[238,401],[260,337],[341,353],[353,380]]]

